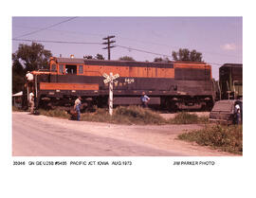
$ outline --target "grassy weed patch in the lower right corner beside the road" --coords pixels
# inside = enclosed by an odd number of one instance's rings
[[[196,142],[201,146],[210,146],[224,152],[243,153],[242,125],[213,125],[202,130],[178,135],[179,139]]]

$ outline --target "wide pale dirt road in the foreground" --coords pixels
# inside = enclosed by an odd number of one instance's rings
[[[199,125],[138,126],[12,113],[13,156],[232,155],[175,139]]]

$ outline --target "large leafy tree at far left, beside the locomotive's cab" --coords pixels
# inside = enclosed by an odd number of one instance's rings
[[[12,93],[23,90],[27,71],[48,68],[48,59],[51,56],[51,52],[44,45],[19,45],[18,50],[12,53]]]

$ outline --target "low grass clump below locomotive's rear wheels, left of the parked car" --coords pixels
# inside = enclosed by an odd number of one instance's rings
[[[170,124],[207,124],[209,117],[198,117],[187,112],[178,113],[174,118],[168,120]]]

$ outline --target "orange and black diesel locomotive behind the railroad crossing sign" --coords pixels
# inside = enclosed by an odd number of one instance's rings
[[[150,104],[177,110],[211,109],[215,96],[211,66],[207,63],[148,63],[72,58],[49,60],[49,70],[33,71],[36,107],[71,107],[82,97],[84,109],[108,103],[108,84],[103,74],[119,74],[114,82],[114,105],[139,104],[140,95]],[[26,93],[26,92],[24,92]]]

